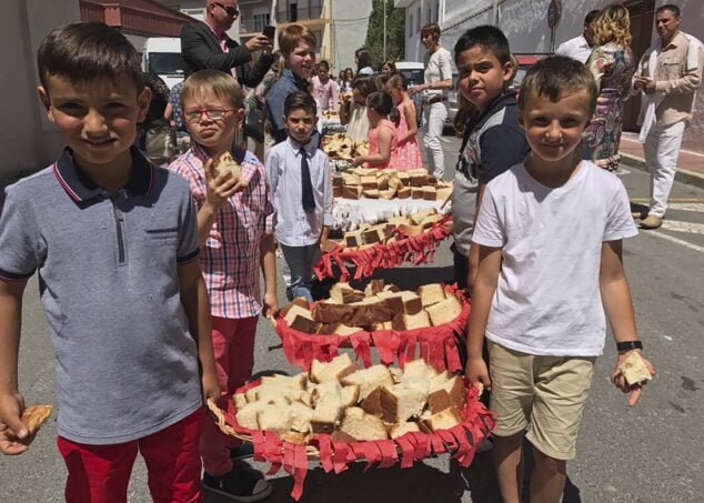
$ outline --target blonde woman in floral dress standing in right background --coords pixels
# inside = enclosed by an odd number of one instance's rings
[[[605,170],[617,171],[623,99],[628,95],[635,72],[628,10],[620,3],[609,6],[593,26],[595,47],[586,66],[594,76],[599,95],[592,122],[582,135],[582,158]]]

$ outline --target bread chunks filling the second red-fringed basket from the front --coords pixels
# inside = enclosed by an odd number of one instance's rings
[[[361,330],[415,330],[451,322],[463,303],[440,283],[424,284],[415,292],[399,290],[383,280],[372,280],[364,291],[335,283],[330,299],[312,310],[305,299],[294,299],[282,310],[285,323],[309,334],[351,335]]]

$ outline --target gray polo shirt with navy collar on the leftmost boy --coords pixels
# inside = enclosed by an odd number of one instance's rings
[[[178,278],[198,256],[195,209],[182,178],[132,160],[111,200],[67,150],[9,187],[0,217],[0,279],[39,271],[59,434],[80,443],[140,439],[201,406]]]

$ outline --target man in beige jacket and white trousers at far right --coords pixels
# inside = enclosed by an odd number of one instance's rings
[[[667,198],[677,168],[684,129],[692,120],[696,91],[702,83],[702,42],[680,31],[680,8],[671,3],[655,11],[660,40],[643,54],[633,89],[641,91],[641,134],[651,171],[650,211],[642,229],[657,229],[667,210]]]

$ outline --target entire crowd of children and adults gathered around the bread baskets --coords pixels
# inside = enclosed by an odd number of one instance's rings
[[[67,501],[125,501],[138,452],[154,501],[201,501],[201,483],[232,501],[265,499],[270,482],[238,460],[242,445],[204,419],[202,401],[224,405],[252,374],[258,320],[279,309],[276,244],[288,298],[313,299],[333,204],[321,114],[338,111],[350,138],[369,141],[353,160],[369,168],[422,167],[422,129],[441,178],[454,62],[463,103],[455,280],[472,296],[466,376],[491,390],[503,500],[520,501],[526,436],[531,500],[560,501],[606,323],[618,349],[612,382],[632,405],[641,393],[618,371],[643,343],[621,260],[622,240],[637,231],[613,171],[623,100],[640,92],[653,170],[641,227],[657,227],[702,74],[700,42],[677,29],[677,7],[657,9],[660,41],[638,63],[626,9],[590,13],[582,40],[536,63],[520,91],[509,40],[492,26],[467,30],[453,53],[438,24],[424,27],[425,81],[409,89],[391,61],[374,72],[366,49],[356,72],[333,78],[300,24],[280,30],[278,52],[264,34],[240,46],[227,36],[238,14],[233,0],[208,0],[205,20],[183,28],[187,79],[171,91],[143,76],[134,48],[104,24],[71,23],[42,42],[39,93],[67,149],[8,188],[0,218],[0,451],[20,454],[32,440],[17,359],[22,293],[39,271]],[[221,169],[225,158],[238,174]]]

